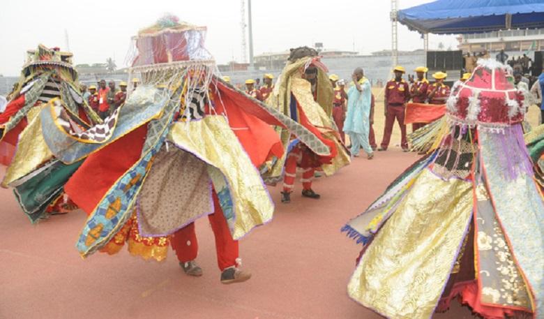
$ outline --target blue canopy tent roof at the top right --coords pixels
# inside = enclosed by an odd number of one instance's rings
[[[437,0],[399,10],[398,22],[421,34],[476,34],[544,28],[544,0]]]

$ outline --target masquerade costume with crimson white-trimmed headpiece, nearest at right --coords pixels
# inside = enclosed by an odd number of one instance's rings
[[[417,319],[458,297],[483,318],[544,318],[544,205],[523,98],[505,75],[479,61],[453,92],[439,147],[342,229],[364,245],[348,285],[356,302]]]

